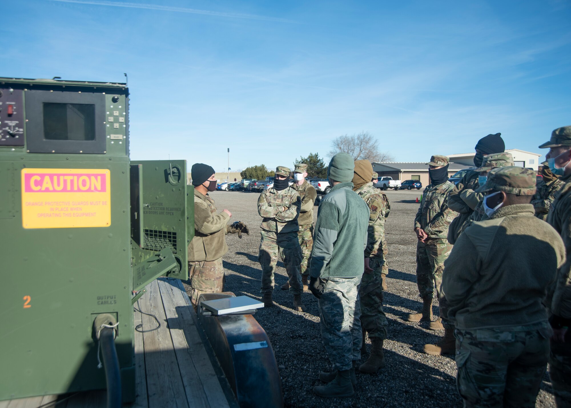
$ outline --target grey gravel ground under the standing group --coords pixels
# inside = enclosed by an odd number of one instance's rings
[[[456,365],[451,357],[423,353],[425,343],[435,343],[444,332],[428,330],[428,325],[406,321],[409,313],[420,310],[421,300],[416,287],[416,237],[412,231],[418,209],[416,198],[421,191],[387,191],[391,214],[387,219],[389,245],[388,291],[384,310],[387,314],[389,339],[384,342],[387,366],[377,374],[357,373],[355,395],[351,398],[325,399],[312,392],[321,385],[320,371],[330,371],[331,363],[321,341],[317,299],[303,294],[306,313],[291,309],[293,297],[279,289],[287,281],[286,270],[278,262],[274,290],[277,307],[260,309],[254,316],[264,327],[280,366],[286,406],[300,407],[460,407],[456,390]],[[260,245],[261,219],[256,209],[258,194],[215,191],[211,193],[219,211],[228,209],[232,221],[246,222],[250,235],[238,239],[227,237],[230,250],[224,255],[226,285],[224,290],[236,295],[261,298]],[[319,200],[319,198],[318,198]],[[314,217],[317,217],[315,207]],[[433,306],[435,315],[438,307]],[[367,339],[368,349],[371,342]],[[365,355],[365,359],[368,355]],[[548,375],[545,375],[536,406],[554,407]]]

